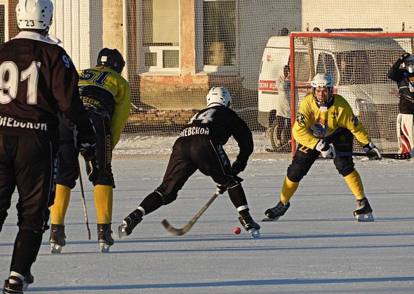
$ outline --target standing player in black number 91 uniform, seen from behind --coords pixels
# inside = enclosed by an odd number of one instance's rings
[[[78,73],[48,35],[51,0],[20,0],[20,33],[0,45],[0,230],[18,190],[18,235],[4,293],[22,293],[34,281],[30,268],[48,229],[58,169],[58,113],[88,148],[95,134],[79,99]]]

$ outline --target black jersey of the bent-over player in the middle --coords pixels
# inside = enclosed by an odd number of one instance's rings
[[[237,113],[226,106],[212,106],[196,113],[180,132],[180,138],[192,136],[206,136],[222,145],[233,136],[239,144],[240,152],[237,159],[241,162],[247,162],[253,153],[251,130]]]

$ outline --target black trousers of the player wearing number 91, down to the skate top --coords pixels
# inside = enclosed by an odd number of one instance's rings
[[[18,227],[11,271],[27,274],[48,230],[48,207],[55,197],[58,143],[0,134],[0,231],[18,188]]]

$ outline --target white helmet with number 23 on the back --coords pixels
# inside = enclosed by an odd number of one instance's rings
[[[19,29],[48,29],[53,18],[51,0],[19,0],[16,6]]]

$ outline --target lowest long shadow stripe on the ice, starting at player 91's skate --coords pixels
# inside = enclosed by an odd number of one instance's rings
[[[242,280],[242,281],[214,281],[194,283],[135,283],[125,285],[107,286],[50,286],[29,287],[27,292],[58,292],[58,291],[85,291],[85,290],[131,290],[131,289],[191,289],[209,287],[234,287],[234,286],[278,286],[278,285],[307,285],[307,284],[334,284],[334,283],[379,283],[379,282],[411,282],[414,276],[382,276],[373,278],[348,278],[348,279],[269,279],[269,280]],[[217,289],[215,289],[217,290]]]

